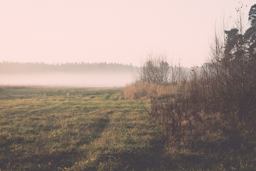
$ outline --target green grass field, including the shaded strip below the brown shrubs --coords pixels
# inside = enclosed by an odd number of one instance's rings
[[[0,170],[256,169],[254,141],[220,132],[168,142],[147,104],[122,91],[2,87]]]

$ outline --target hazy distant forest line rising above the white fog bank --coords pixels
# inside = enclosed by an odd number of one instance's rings
[[[19,62],[0,62],[0,74],[31,74],[31,73],[120,73],[132,72],[137,67],[132,64],[119,63],[19,63]]]

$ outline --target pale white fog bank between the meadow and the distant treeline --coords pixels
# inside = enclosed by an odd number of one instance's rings
[[[122,74],[0,74],[1,85],[124,87],[133,82],[129,73]]]

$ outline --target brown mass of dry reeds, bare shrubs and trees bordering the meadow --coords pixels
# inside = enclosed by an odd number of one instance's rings
[[[209,62],[191,68],[188,80],[181,79],[181,72],[173,72],[174,67],[161,56],[149,56],[139,81],[125,87],[127,99],[149,101],[149,115],[169,138],[184,141],[188,135],[194,138],[229,130],[235,136],[255,139],[256,5],[250,9],[247,30],[243,30],[241,8],[237,8],[236,27],[215,32]]]

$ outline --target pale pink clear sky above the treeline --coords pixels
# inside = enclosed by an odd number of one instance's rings
[[[256,1],[242,3],[247,15]],[[165,54],[172,64],[200,65],[214,25],[225,18],[232,27],[238,5],[235,0],[0,1],[0,62],[140,66],[152,53]]]

